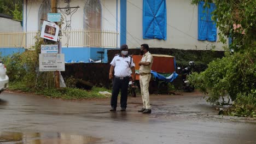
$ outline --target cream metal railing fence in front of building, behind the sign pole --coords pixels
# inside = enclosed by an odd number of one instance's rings
[[[0,32],[0,47],[31,48],[36,43],[38,31]],[[74,29],[62,31],[62,46],[117,47],[118,32],[104,29]]]

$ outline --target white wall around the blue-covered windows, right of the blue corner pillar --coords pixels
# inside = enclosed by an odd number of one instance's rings
[[[147,43],[150,47],[209,50],[211,45],[214,45],[216,50],[223,50],[221,43],[197,40],[197,6],[191,5],[190,1],[166,0],[167,40],[143,39],[142,9],[142,0],[127,2],[126,41],[130,47],[139,47],[141,44]]]

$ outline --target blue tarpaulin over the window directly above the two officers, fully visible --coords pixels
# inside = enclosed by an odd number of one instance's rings
[[[165,0],[143,0],[143,38],[166,40]]]

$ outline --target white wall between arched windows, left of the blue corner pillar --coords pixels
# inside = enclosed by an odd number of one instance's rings
[[[72,0],[70,7],[79,6],[77,12],[71,17],[71,28],[72,29],[83,29],[84,27],[84,6],[87,0]],[[102,7],[102,29],[116,31],[117,30],[117,19],[118,19],[118,32],[120,33],[120,0],[118,0],[118,11],[117,11],[117,0],[100,0]],[[24,0],[24,31],[37,31],[38,30],[38,10],[42,1]],[[66,7],[67,3],[59,1],[58,7]],[[59,13],[60,10],[58,11]],[[118,17],[117,17],[118,12]],[[63,14],[62,14],[63,15]],[[70,19],[70,17],[67,17]],[[65,22],[65,21],[64,21]],[[65,27],[64,24],[62,27]],[[118,45],[120,45],[120,35],[118,35]]]

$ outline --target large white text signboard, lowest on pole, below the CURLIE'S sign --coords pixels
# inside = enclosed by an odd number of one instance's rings
[[[65,71],[64,54],[39,54],[39,71]]]

